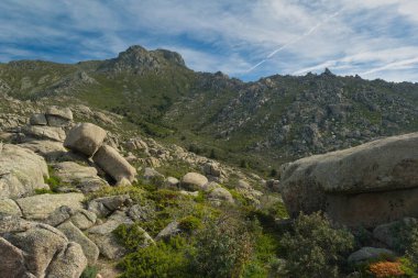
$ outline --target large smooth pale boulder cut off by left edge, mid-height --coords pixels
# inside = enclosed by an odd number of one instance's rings
[[[47,188],[48,169],[43,157],[16,145],[0,143],[0,197],[19,198]]]

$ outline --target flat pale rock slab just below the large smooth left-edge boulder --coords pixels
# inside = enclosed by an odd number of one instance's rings
[[[43,220],[62,205],[74,210],[82,209],[82,193],[66,194],[37,194],[18,199],[16,203],[22,210],[23,216],[30,220]]]

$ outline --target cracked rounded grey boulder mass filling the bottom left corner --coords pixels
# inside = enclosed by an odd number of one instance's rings
[[[0,237],[4,277],[79,277],[87,266],[81,246],[58,230],[34,224],[24,232]],[[7,255],[4,258],[3,255]]]

